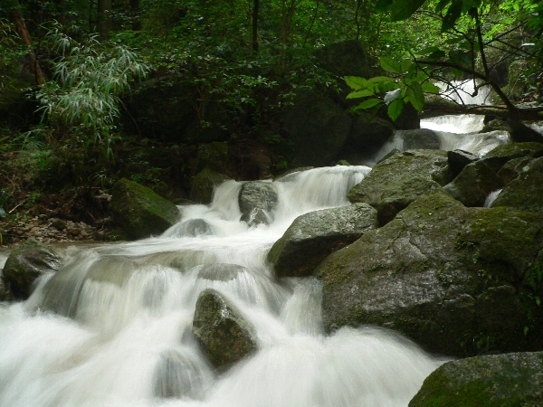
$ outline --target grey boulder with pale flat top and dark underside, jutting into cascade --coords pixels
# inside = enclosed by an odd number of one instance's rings
[[[305,213],[271,247],[268,261],[279,277],[309,276],[321,260],[378,227],[368,204]]]

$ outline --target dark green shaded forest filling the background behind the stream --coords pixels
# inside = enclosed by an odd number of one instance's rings
[[[398,16],[405,6],[416,13]],[[446,64],[487,63],[466,45],[481,34],[508,99],[540,106],[542,14],[534,0],[3,2],[2,220],[92,224],[107,215],[96,197],[121,177],[179,203],[209,162],[236,179],[305,164],[284,115],[311,104],[304,92],[345,100],[330,44],[356,48],[368,78],[398,80],[384,61],[433,54],[442,80],[465,80]]]

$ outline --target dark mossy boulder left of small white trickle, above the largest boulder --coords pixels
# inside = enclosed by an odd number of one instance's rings
[[[500,177],[490,166],[484,161],[476,161],[465,166],[444,189],[466,206],[482,206],[488,194],[502,186]]]

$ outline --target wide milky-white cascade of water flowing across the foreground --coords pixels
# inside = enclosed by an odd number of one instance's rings
[[[64,251],[24,303],[0,308],[0,405],[405,406],[443,360],[375,327],[323,332],[317,279],[274,279],[267,251],[301,213],[348,204],[370,169],[336,166],[274,184],[270,225],[240,222],[241,184],[180,207],[162,236]],[[191,326],[216,289],[252,322],[258,351],[217,373]]]

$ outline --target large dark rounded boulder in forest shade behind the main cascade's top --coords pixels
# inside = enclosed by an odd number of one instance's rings
[[[329,165],[345,145],[352,124],[345,109],[317,90],[300,90],[283,109],[281,121],[299,166]]]

